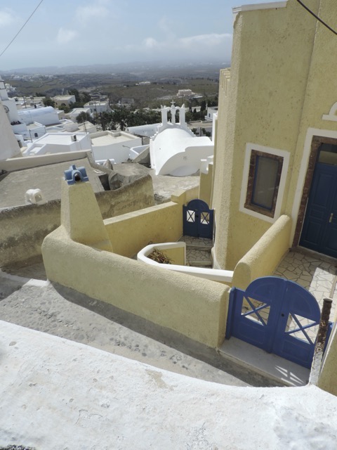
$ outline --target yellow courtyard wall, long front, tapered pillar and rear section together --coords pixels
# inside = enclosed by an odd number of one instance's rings
[[[188,195],[177,198],[182,202]],[[164,242],[164,229],[168,235],[181,233],[181,210],[182,203],[169,202],[107,220],[105,226],[91,184],[63,181],[61,226],[41,248],[48,279],[217,347],[225,337],[227,285],[103,250],[111,250],[107,230],[112,244],[128,252],[141,246],[143,233]]]

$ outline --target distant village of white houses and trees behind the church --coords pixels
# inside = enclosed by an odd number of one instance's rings
[[[16,77],[19,75],[13,79]],[[161,121],[160,108],[136,110],[133,98],[121,98],[112,105],[105,95],[88,94],[87,91],[80,93],[77,89],[70,89],[67,95],[53,97],[17,96],[11,84],[0,80],[0,98],[23,156],[90,150],[98,163],[134,160],[149,150],[150,138],[157,133]],[[208,106],[202,100],[192,109],[192,100],[202,96],[190,89],[179,89],[176,98],[186,103],[184,113],[190,120],[189,126],[186,122],[181,125],[192,130],[191,136],[211,138],[217,105]],[[169,117],[169,122],[176,123],[175,117],[173,119]],[[17,153],[14,149],[13,152]]]

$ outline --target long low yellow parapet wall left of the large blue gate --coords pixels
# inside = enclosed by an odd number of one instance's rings
[[[51,281],[209,347],[223,342],[230,291],[227,285],[163,271],[75,243],[63,227],[45,238],[42,254]]]

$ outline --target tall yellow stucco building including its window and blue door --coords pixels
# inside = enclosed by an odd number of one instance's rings
[[[337,29],[334,0],[306,6]],[[234,269],[282,214],[291,217],[289,248],[301,242],[337,256],[335,205],[324,200],[337,193],[326,181],[337,176],[336,56],[336,35],[296,0],[234,8],[232,67],[220,73],[216,124],[216,267]],[[321,162],[331,163],[329,174]],[[312,180],[319,212],[306,208]]]

